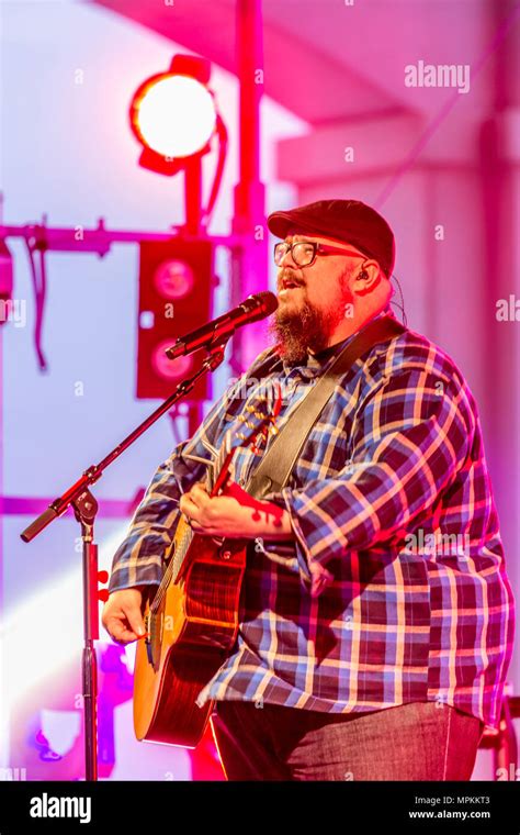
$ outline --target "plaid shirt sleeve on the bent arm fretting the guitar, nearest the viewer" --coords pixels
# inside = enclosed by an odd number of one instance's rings
[[[355,413],[340,472],[265,497],[290,513],[301,569],[403,533],[454,479],[474,432],[463,383],[417,368],[384,378]]]

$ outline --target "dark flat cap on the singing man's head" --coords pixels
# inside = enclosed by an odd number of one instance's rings
[[[394,233],[385,219],[361,200],[318,200],[286,212],[272,212],[268,227],[282,238],[297,232],[334,237],[376,260],[388,278],[394,269]]]

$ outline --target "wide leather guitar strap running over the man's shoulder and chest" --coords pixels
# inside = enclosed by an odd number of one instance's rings
[[[267,493],[279,492],[282,487],[285,487],[310,430],[332,397],[338,380],[374,345],[387,342],[406,330],[392,316],[383,316],[370,322],[349,342],[330,368],[303,397],[289,421],[275,436],[245,487],[250,496],[261,499]]]

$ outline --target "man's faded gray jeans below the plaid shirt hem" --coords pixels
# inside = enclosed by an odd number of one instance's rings
[[[212,725],[228,780],[470,780],[484,731],[437,702],[331,714],[222,701]]]

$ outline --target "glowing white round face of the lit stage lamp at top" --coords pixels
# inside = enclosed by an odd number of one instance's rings
[[[132,102],[131,120],[139,141],[173,159],[201,152],[215,131],[216,119],[212,93],[190,76],[155,76]]]

